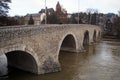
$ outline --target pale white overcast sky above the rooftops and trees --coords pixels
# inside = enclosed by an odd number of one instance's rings
[[[97,9],[102,13],[117,13],[120,10],[119,0],[46,0],[48,8],[54,8],[59,1],[68,13],[85,12],[87,8]],[[9,15],[26,15],[27,13],[38,13],[45,6],[45,0],[12,0]]]

